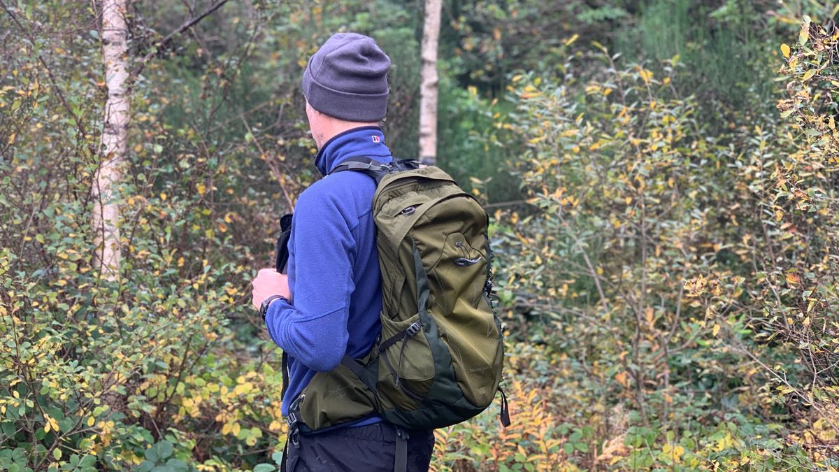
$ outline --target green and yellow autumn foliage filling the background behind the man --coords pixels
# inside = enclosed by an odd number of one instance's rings
[[[0,469],[271,470],[279,350],[249,307],[315,179],[300,73],[393,60],[416,153],[423,4],[135,1],[125,259],[92,265],[96,3],[0,0]],[[832,3],[444,3],[440,165],[493,215],[506,388],[437,470],[836,469]]]

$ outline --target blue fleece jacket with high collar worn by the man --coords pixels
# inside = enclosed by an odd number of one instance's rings
[[[378,127],[338,134],[315,159],[326,178],[303,191],[294,207],[288,264],[292,299],[272,303],[265,317],[274,343],[289,354],[284,415],[315,372],[336,368],[344,354],[367,354],[381,331],[382,275],[372,212],[376,185],[361,172],[329,175],[353,156],[393,160]]]

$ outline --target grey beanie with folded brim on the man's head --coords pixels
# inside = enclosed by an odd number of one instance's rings
[[[320,113],[374,122],[388,110],[390,58],[373,38],[338,33],[312,55],[303,72],[303,94]]]

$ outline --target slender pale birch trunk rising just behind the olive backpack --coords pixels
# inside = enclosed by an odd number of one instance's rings
[[[437,162],[437,44],[440,39],[442,0],[425,0],[420,83],[420,162]]]

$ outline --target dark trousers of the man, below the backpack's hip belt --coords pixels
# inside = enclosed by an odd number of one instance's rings
[[[434,449],[434,431],[408,433],[408,470],[427,472]],[[301,434],[300,447],[289,444],[288,454],[288,472],[389,472],[393,471],[396,457],[396,429],[378,422],[320,434]]]

